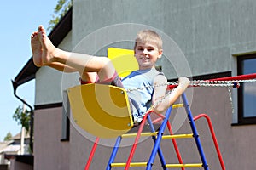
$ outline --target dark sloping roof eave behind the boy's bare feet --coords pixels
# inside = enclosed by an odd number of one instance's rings
[[[58,46],[67,33],[72,29],[72,8],[67,11],[67,14],[60,20],[60,22],[54,27],[54,29],[49,33],[49,39],[51,42]],[[17,88],[23,83],[29,82],[35,78],[38,67],[34,65],[32,57],[29,59],[21,69],[19,74],[15,77],[13,81],[14,88]]]

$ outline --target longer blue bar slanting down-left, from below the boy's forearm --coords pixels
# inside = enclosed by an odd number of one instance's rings
[[[172,111],[172,106],[169,107],[168,110],[166,111],[166,118],[164,119],[164,121],[162,122],[162,125],[160,126],[160,130],[157,135],[157,139],[155,140],[153,150],[152,150],[151,155],[148,160],[148,166],[146,168],[147,170],[152,169],[152,166],[154,163],[154,158],[155,158],[156,152],[159,150],[162,135],[164,133],[164,130],[166,129],[166,124],[169,119],[169,116],[171,115],[171,111]]]

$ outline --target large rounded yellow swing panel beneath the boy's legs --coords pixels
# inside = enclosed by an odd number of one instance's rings
[[[116,138],[133,126],[125,89],[102,84],[79,85],[67,90],[73,121],[100,138]]]

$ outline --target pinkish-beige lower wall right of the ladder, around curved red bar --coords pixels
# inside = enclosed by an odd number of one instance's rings
[[[232,105],[228,88],[195,88],[194,94],[192,112],[194,116],[199,113],[210,116],[226,169],[254,169],[255,150],[250,146],[256,139],[253,135],[256,126],[231,126]],[[206,121],[198,120],[196,125],[211,169],[220,169],[216,163],[217,156],[212,151],[214,148]]]

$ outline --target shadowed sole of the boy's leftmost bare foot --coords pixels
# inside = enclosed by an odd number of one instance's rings
[[[39,39],[38,39],[38,31],[32,33],[31,48],[32,48],[34,64],[38,67],[42,66],[43,65],[43,61],[42,61],[43,49],[41,46],[41,42],[39,42]]]

